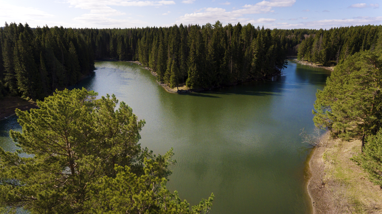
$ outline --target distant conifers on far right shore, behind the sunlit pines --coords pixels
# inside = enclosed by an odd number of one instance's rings
[[[375,50],[382,41],[382,26],[336,27],[311,30],[297,45],[298,59],[336,65],[359,51]]]

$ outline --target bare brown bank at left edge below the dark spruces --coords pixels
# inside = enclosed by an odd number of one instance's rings
[[[36,102],[32,100],[27,101],[21,97],[3,97],[3,99],[0,99],[0,120],[14,115],[16,109],[25,111],[37,108]]]

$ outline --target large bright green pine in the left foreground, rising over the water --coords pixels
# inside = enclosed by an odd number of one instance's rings
[[[207,213],[213,195],[189,211],[165,187],[172,149],[153,155],[138,144],[144,121],[114,95],[56,90],[40,109],[16,110],[21,148],[0,149],[0,204],[31,213]],[[20,157],[20,153],[27,156]]]

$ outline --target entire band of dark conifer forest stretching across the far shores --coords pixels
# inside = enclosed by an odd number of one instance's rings
[[[131,29],[31,28],[5,24],[0,29],[0,79],[5,94],[43,99],[78,82],[95,59],[140,61],[175,88],[255,80],[277,75],[287,55],[338,64],[380,44],[381,26],[330,30],[264,29],[251,24],[174,25]]]

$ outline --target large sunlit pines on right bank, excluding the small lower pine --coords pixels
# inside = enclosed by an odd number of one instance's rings
[[[314,103],[314,123],[340,137],[375,134],[380,128],[382,52],[361,51],[337,65]]]

